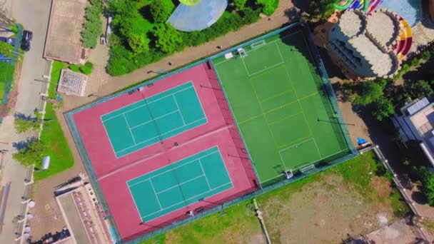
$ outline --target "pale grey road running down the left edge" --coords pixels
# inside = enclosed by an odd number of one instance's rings
[[[16,108],[12,111],[12,113],[33,115],[34,109],[39,106],[39,93],[44,85],[34,79],[41,79],[46,67],[46,60],[42,56],[51,0],[0,0],[0,7],[6,9],[13,19],[23,24],[24,29],[34,34],[31,49],[24,54],[21,76],[16,82],[19,86],[19,96]],[[16,150],[13,143],[26,141],[26,138],[32,136],[32,134],[17,134],[13,121],[12,114],[4,118],[3,123],[0,124],[0,140],[8,143],[1,144],[1,149],[9,150],[9,153],[4,154],[4,168],[1,171],[2,183],[11,183],[3,228],[0,233],[0,243],[13,243],[16,230],[14,218],[20,213],[21,195],[24,194],[26,169],[11,158],[11,153]]]

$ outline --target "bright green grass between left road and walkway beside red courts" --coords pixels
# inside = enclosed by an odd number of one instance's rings
[[[49,96],[56,96],[56,86],[54,83],[59,81],[62,68],[66,68],[66,63],[54,61],[53,68],[51,69],[51,84],[49,86]],[[41,180],[56,173],[71,168],[74,165],[74,158],[66,141],[64,131],[60,126],[59,120],[56,116],[51,103],[46,103],[46,113],[44,120],[47,122],[41,133],[41,142],[48,148],[48,155],[50,156],[50,167],[46,171],[37,172],[34,174],[35,180]],[[51,120],[51,121],[49,121]]]

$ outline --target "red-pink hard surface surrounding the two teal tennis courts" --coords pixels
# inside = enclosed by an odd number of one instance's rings
[[[116,158],[100,116],[140,101],[143,96],[153,96],[187,81],[193,81],[208,123],[168,138],[163,143],[156,143],[121,158]],[[187,218],[186,212],[188,210],[196,210],[199,207],[203,207],[205,210],[213,208],[256,190],[252,186],[252,181],[257,181],[254,178],[253,169],[250,167],[252,172],[248,172],[249,169],[246,169],[246,160],[248,159],[246,156],[237,157],[241,155],[240,148],[242,147],[241,139],[234,141],[234,136],[239,138],[238,131],[233,125],[233,120],[228,120],[227,114],[223,116],[222,100],[225,103],[224,106],[227,107],[226,101],[221,98],[223,95],[217,98],[218,89],[210,88],[216,86],[218,85],[216,85],[215,73],[206,63],[202,63],[157,81],[151,87],[145,86],[144,91],[138,91],[131,95],[125,92],[121,96],[111,98],[109,101],[74,114],[74,122],[79,130],[79,135],[123,240],[137,238],[145,233],[170,225],[174,221]],[[229,116],[231,116],[230,113]],[[178,146],[174,146],[174,143],[178,143]],[[213,146],[218,146],[221,152],[233,188],[206,198],[203,202],[193,203],[141,224],[141,218],[126,181],[167,166],[168,160],[173,163]],[[248,164],[250,164],[249,161]]]

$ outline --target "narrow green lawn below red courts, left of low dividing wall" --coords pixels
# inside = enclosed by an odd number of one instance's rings
[[[226,215],[214,213],[142,243],[250,243],[250,238],[261,235],[262,230],[246,205],[251,205],[251,200],[227,208]]]

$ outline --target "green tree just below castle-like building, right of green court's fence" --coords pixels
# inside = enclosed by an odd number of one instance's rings
[[[387,81],[363,81],[356,86],[357,97],[354,99],[355,104],[368,105],[383,96]]]

